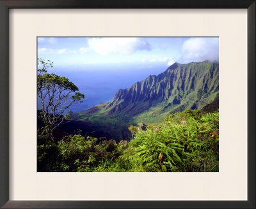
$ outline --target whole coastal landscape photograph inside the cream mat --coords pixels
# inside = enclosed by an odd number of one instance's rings
[[[218,37],[37,38],[38,172],[219,172]]]

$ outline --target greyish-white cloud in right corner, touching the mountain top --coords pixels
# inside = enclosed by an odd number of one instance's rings
[[[219,40],[218,38],[189,38],[182,45],[182,62],[218,61]]]

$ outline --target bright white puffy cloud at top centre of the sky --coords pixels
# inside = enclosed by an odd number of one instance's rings
[[[91,50],[101,55],[132,54],[137,50],[151,50],[151,45],[143,38],[91,38],[88,40]]]

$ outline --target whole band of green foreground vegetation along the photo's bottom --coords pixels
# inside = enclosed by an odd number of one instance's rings
[[[144,131],[129,127],[130,141],[100,140],[77,131],[58,142],[38,129],[38,171],[216,172],[219,169],[219,114],[174,113]]]

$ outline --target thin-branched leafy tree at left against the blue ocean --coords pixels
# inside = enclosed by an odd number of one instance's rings
[[[37,96],[42,107],[40,119],[45,124],[47,138],[51,140],[52,131],[65,122],[72,111],[68,108],[76,103],[82,103],[84,94],[78,92],[78,87],[63,76],[47,73],[47,68],[52,68],[53,62],[44,59],[37,60]]]

